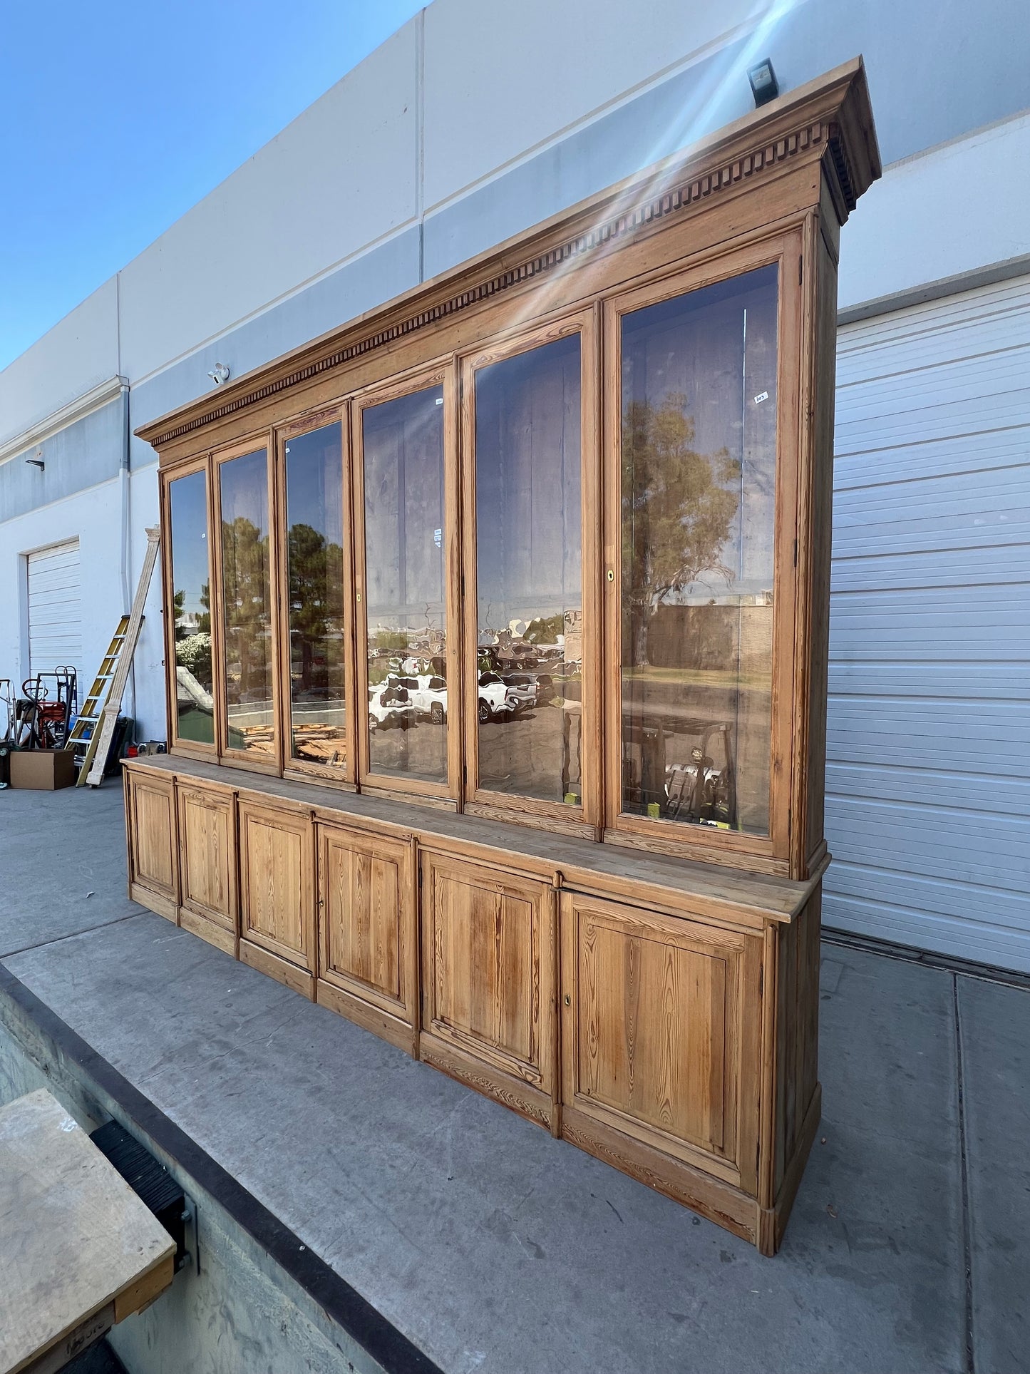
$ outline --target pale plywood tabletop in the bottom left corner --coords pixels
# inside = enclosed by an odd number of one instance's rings
[[[174,1249],[49,1092],[0,1109],[0,1369],[33,1366],[91,1318],[102,1334],[139,1311],[172,1283]]]

